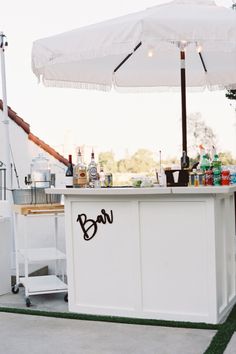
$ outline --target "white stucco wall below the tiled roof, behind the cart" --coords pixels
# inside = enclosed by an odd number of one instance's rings
[[[2,123],[2,111],[0,110],[0,161],[4,162],[4,146],[5,146],[5,138],[4,138],[4,126]],[[27,188],[25,185],[25,176],[30,173],[30,164],[32,159],[38,156],[39,153],[43,153],[50,162],[51,173],[56,174],[56,186],[63,187],[64,186],[64,174],[66,170],[66,166],[55,159],[52,155],[48,154],[38,145],[36,145],[33,141],[28,139],[28,134],[18,126],[14,121],[9,119],[9,134],[10,134],[10,143],[11,143],[11,162],[14,162],[17,174],[19,176],[19,184],[20,188]],[[43,137],[39,137],[44,140]],[[50,141],[46,142],[50,145]],[[13,157],[13,159],[12,159]],[[18,188],[18,183],[16,179],[16,175],[14,169],[11,171],[12,176],[12,189]],[[1,201],[0,201],[1,203]],[[4,203],[2,203],[2,207]],[[1,212],[1,208],[0,208]],[[13,220],[13,219],[12,219]],[[13,221],[12,221],[13,224]],[[20,224],[21,225],[21,224]],[[53,220],[50,217],[40,217],[40,218],[32,218],[27,225],[28,235],[30,238],[30,245],[33,247],[49,247],[54,244],[54,230],[53,230]],[[14,237],[12,234],[12,273],[14,273]],[[22,245],[23,235],[20,232],[20,243]],[[60,218],[59,221],[59,237],[58,237],[58,245],[61,250],[64,250],[64,217]],[[23,246],[23,245],[22,245]],[[46,265],[46,264],[43,264]],[[53,267],[50,265],[50,271],[53,271]]]

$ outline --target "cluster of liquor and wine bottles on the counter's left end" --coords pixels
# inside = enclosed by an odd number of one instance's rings
[[[65,173],[66,188],[112,187],[112,174],[105,173],[102,166],[100,169],[98,168],[93,150],[88,165],[86,165],[80,149],[78,150],[77,163],[73,166],[71,155],[69,155],[68,161]]]

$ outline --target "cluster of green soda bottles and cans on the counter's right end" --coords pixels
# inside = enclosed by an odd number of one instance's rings
[[[227,186],[236,183],[236,171],[222,166],[219,155],[214,151],[212,159],[202,149],[197,168],[189,172],[189,186]]]

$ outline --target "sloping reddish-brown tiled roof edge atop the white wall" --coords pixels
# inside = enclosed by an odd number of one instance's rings
[[[0,109],[3,110],[3,102],[0,100]],[[56,150],[46,144],[44,141],[39,139],[30,131],[30,125],[26,123],[21,117],[19,117],[16,112],[14,112],[10,107],[8,107],[8,117],[11,118],[19,127],[21,127],[26,134],[28,134],[28,139],[33,141],[36,145],[38,145],[41,149],[46,151],[48,154],[52,155],[55,159],[59,162],[63,163],[64,165],[68,166],[69,161],[60,155]]]

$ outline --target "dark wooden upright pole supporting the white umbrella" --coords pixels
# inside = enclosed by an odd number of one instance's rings
[[[185,74],[185,51],[180,50],[181,63],[181,106],[182,106],[182,157],[181,168],[189,167],[189,157],[187,155],[187,110],[186,110],[186,74]]]

